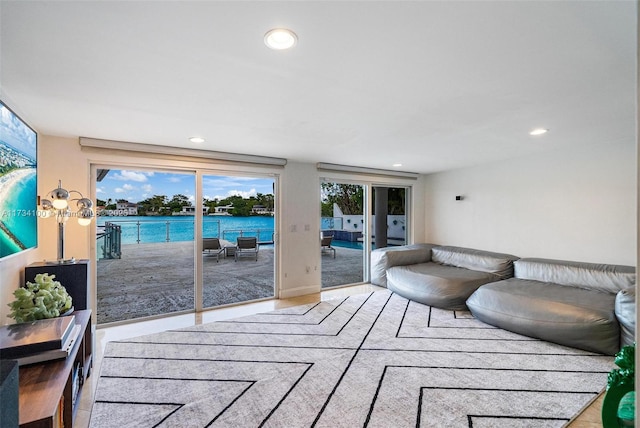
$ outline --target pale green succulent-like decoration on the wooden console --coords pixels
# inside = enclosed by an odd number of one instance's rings
[[[17,323],[55,318],[71,309],[72,300],[55,275],[41,273],[35,282],[27,282],[13,292],[16,300],[9,303],[9,317]]]

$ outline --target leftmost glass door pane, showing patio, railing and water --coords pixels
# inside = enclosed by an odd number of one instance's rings
[[[193,310],[195,175],[96,176],[98,324]]]

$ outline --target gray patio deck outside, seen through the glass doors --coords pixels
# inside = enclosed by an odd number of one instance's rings
[[[334,247],[322,255],[322,288],[362,282],[362,251]],[[273,247],[260,248],[258,260],[216,258],[204,253],[204,307],[271,298]],[[193,242],[129,244],[120,259],[97,264],[98,324],[188,311],[194,307]]]

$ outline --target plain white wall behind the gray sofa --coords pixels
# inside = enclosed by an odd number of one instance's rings
[[[636,158],[611,143],[429,175],[426,241],[635,266]]]

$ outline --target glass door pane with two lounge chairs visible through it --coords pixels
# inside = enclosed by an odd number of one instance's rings
[[[202,178],[203,307],[275,295],[273,178]]]

